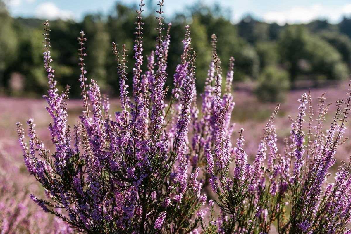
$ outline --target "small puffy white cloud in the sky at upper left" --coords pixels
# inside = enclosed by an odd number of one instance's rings
[[[72,11],[62,10],[58,8],[53,2],[45,2],[39,4],[35,9],[35,16],[41,19],[74,19],[74,13]]]

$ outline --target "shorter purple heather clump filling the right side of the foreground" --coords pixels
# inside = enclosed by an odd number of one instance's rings
[[[213,64],[209,80],[214,79],[218,84],[221,77],[216,56]],[[228,77],[230,75],[227,80]],[[210,220],[208,223],[201,220],[204,232],[269,233],[275,229],[277,233],[350,233],[347,229],[351,218],[350,161],[342,162],[335,182],[327,178],[336,162],[337,148],[347,140],[342,138],[351,92],[346,102],[336,102],[336,114],[326,132],[322,129],[329,105],[325,105],[324,94],[319,97],[317,123],[313,125],[311,95],[304,93],[298,100],[297,118],[289,116],[291,135],[284,140],[282,152],[278,151],[273,125],[279,109],[277,105],[264,128],[252,164],[248,163],[243,149],[244,129],[238,132],[236,146],[231,145],[232,130],[228,128],[231,108],[228,107],[232,102],[226,94],[220,97],[219,88],[216,92],[212,114],[208,115],[213,116],[210,129],[214,137],[204,145],[203,158],[207,161],[204,173],[218,196],[216,203],[220,213],[216,218],[214,202],[210,201]],[[202,121],[197,122],[196,129],[204,129]],[[212,145],[216,145],[214,150]],[[230,167],[232,162],[234,165]]]

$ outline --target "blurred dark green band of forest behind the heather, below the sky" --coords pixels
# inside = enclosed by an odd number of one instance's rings
[[[0,2],[0,93],[36,96],[44,93],[46,76],[42,65],[42,22],[44,19],[13,18]],[[155,6],[146,6],[143,22],[144,56],[152,51],[157,37]],[[97,80],[104,92],[117,96],[117,63],[112,42],[126,45],[130,66],[133,61],[133,34],[137,5],[116,4],[108,15],[88,14],[81,22],[50,22],[52,58],[56,79],[62,86],[72,87],[71,95],[79,95],[79,32],[87,37],[88,78]],[[311,86],[349,78],[351,68],[351,18],[338,24],[316,20],[309,24],[268,24],[246,16],[233,24],[231,16],[219,6],[196,4],[185,12],[165,19],[170,28],[171,45],[168,72],[172,74],[182,53],[185,26],[191,26],[192,46],[197,52],[197,89],[201,91],[211,61],[211,35],[217,35],[217,53],[223,74],[231,56],[235,59],[234,81],[255,85],[261,100],[275,101],[282,92],[301,83]],[[165,33],[165,32],[164,32]],[[132,74],[129,69],[128,74]],[[130,79],[131,80],[131,79]],[[172,78],[166,81],[172,86]],[[33,93],[35,91],[35,93]]]

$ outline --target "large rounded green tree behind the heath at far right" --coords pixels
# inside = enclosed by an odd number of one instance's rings
[[[285,29],[278,41],[278,51],[292,84],[302,75],[329,80],[347,77],[347,67],[340,53],[302,25]]]

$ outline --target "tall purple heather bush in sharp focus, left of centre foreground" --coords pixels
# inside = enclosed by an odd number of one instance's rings
[[[28,171],[42,184],[47,195],[45,200],[31,194],[31,199],[45,212],[59,216],[81,232],[186,233],[197,227],[199,218],[194,213],[207,198],[201,194],[199,170],[189,168],[187,157],[196,55],[187,27],[181,63],[174,74],[172,99],[166,104],[168,88],[164,83],[170,36],[168,32],[162,35],[162,6],[160,2],[156,49],[147,57],[145,72],[141,70],[143,2],[137,11],[132,98],[128,96],[125,82],[126,46],[119,52],[113,44],[122,109],[114,115],[108,113],[108,99],[100,94],[97,82],[87,82],[86,38],[84,32],[80,33],[79,81],[84,111],[81,122],[73,129],[66,119],[69,87],[58,93],[49,50],[49,24],[44,23],[44,62],[49,81],[44,98],[53,120],[49,130],[55,152],[50,156],[39,141],[33,119],[27,122],[29,147],[20,123],[19,141]],[[188,172],[192,175],[188,176]]]

